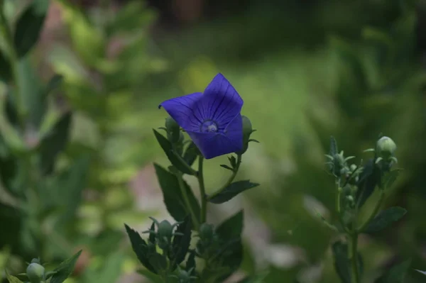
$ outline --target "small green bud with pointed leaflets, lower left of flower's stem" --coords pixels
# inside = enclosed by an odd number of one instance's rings
[[[150,239],[151,235],[153,238],[155,238],[155,244],[158,245],[158,248],[161,250],[169,250],[171,244],[172,244],[172,238],[175,235],[183,235],[179,232],[173,232],[181,222],[177,222],[175,224],[171,224],[167,220],[163,220],[161,222],[158,222],[155,218],[150,217],[151,220],[155,223],[155,226],[157,226],[157,231],[155,229],[151,228],[150,230],[143,231],[142,233],[149,233]],[[152,245],[152,244],[151,244]],[[155,247],[154,247],[155,248]]]

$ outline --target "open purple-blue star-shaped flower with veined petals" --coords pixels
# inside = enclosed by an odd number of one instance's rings
[[[243,99],[217,74],[204,93],[196,92],[160,104],[190,135],[206,159],[243,148]]]

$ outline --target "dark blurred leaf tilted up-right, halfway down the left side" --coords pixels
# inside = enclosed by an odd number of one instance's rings
[[[53,172],[56,157],[65,150],[70,135],[72,113],[68,112],[53,126],[52,131],[40,143],[40,170],[43,174]]]

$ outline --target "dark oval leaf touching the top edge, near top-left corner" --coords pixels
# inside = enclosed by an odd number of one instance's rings
[[[13,40],[18,57],[23,57],[33,48],[40,37],[49,0],[33,0],[18,18]]]

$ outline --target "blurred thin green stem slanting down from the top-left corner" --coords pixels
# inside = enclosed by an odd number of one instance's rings
[[[21,89],[19,87],[19,72],[18,72],[18,55],[16,54],[15,45],[13,44],[13,36],[11,34],[11,29],[7,23],[6,16],[4,15],[4,0],[0,0],[0,29],[4,38],[4,43],[6,43],[7,52],[9,52],[9,60],[11,63],[12,69],[12,81],[14,84],[15,91],[13,94],[15,96],[16,109],[18,111],[19,123],[21,130],[25,131],[25,121],[26,121],[26,110],[23,104],[23,97],[21,94]]]

